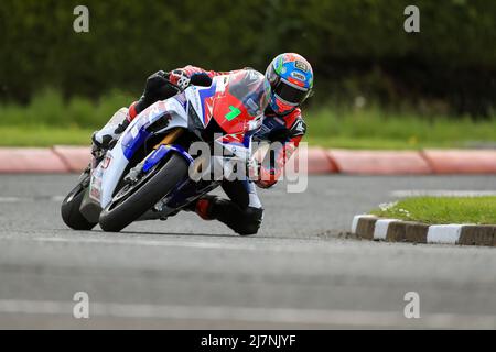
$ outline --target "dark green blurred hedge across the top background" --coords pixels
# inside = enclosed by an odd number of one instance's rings
[[[85,4],[90,32],[73,31]],[[421,33],[403,10],[421,10]],[[314,103],[365,96],[486,116],[496,107],[496,1],[488,0],[2,0],[0,100],[42,88],[138,96],[158,69],[194,64],[263,70],[281,52],[315,68]]]

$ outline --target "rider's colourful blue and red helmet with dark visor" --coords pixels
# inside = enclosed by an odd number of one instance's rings
[[[301,55],[278,55],[267,67],[266,77],[272,87],[270,108],[278,114],[290,113],[312,94],[313,69]]]

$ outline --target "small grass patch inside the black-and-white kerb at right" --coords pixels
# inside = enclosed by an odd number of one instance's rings
[[[429,224],[496,224],[496,197],[414,197],[382,206],[371,213]]]

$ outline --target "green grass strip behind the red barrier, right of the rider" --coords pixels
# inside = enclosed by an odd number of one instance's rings
[[[309,141],[326,147],[418,150],[496,142],[496,117],[474,121],[369,107],[310,110],[305,120]]]

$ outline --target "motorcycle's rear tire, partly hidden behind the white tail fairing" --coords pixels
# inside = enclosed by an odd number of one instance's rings
[[[73,190],[69,191],[67,197],[61,206],[62,220],[65,224],[73,230],[89,231],[96,223],[91,223],[86,220],[79,211],[80,204],[85,197],[85,191],[88,186],[84,186],[89,179],[89,174],[83,178]]]

